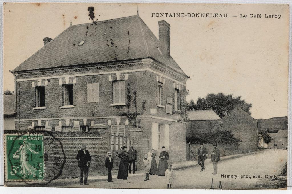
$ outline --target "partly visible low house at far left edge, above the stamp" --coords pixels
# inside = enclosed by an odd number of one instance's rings
[[[4,95],[4,130],[15,130],[15,104],[14,95]]]

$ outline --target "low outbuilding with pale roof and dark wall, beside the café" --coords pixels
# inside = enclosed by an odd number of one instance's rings
[[[187,111],[187,137],[196,137],[200,133],[215,130],[220,117],[213,110]]]

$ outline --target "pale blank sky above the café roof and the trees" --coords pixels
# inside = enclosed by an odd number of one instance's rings
[[[89,6],[94,7],[98,21],[136,15],[138,6],[140,18],[156,37],[158,21],[168,22],[170,54],[190,76],[188,101],[223,92],[251,103],[253,118],[287,116],[288,5],[6,3],[4,90],[14,90],[9,70],[41,49],[44,37],[55,38],[70,22],[91,22]],[[155,13],[228,16],[155,17]],[[251,18],[250,14],[262,17]],[[265,14],[278,18],[265,18]]]

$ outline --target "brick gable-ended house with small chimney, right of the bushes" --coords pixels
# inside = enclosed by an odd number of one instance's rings
[[[223,129],[232,132],[234,137],[241,140],[239,150],[243,152],[256,151],[258,148],[258,120],[252,118],[235,104],[234,109],[221,118]]]

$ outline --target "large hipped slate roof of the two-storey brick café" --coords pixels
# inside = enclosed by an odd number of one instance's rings
[[[80,41],[85,42],[79,46]],[[73,25],[13,72],[151,57],[186,76],[171,57],[169,61],[164,58],[158,45],[139,15]]]

